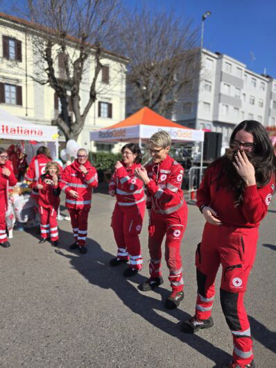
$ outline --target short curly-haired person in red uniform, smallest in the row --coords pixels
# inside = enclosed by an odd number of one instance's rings
[[[58,246],[58,206],[60,206],[60,188],[58,180],[60,165],[58,162],[50,161],[46,163],[45,174],[39,178],[37,188],[40,192],[38,206],[40,210],[40,243],[46,242],[50,237],[51,244]]]

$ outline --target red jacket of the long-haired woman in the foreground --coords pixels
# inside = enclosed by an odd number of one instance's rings
[[[223,179],[220,185],[217,185],[216,178],[221,172],[221,165],[222,162],[218,161],[207,169],[196,194],[197,206],[211,207],[225,226],[258,227],[268,211],[271,196],[275,191],[275,179],[264,187],[245,187],[242,203],[234,207],[234,192],[227,190],[227,183],[223,183]]]

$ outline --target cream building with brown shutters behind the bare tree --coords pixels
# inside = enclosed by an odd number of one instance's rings
[[[37,83],[37,55],[32,44],[32,32],[39,26],[24,19],[0,13],[0,108],[35,124],[51,124],[59,112],[59,100],[49,85]],[[126,110],[126,58],[105,53],[104,67],[97,81],[97,101],[90,108],[82,133],[81,147],[96,150],[89,142],[89,131],[120,122]],[[57,60],[59,76],[62,67]],[[89,58],[80,88],[80,107],[83,110],[89,97],[89,85],[94,71],[93,55]],[[70,110],[70,106],[69,106]]]

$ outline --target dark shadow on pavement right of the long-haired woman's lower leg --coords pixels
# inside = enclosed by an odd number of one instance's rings
[[[250,321],[250,328],[252,337],[257,340],[260,344],[264,345],[266,349],[273,351],[276,353],[276,333],[273,331],[269,331],[264,324],[261,324],[254,317],[248,316]]]

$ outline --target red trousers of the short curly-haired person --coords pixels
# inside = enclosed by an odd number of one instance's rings
[[[58,240],[58,208],[46,208],[39,206],[40,210],[40,233],[43,239],[51,237],[51,241]]]

